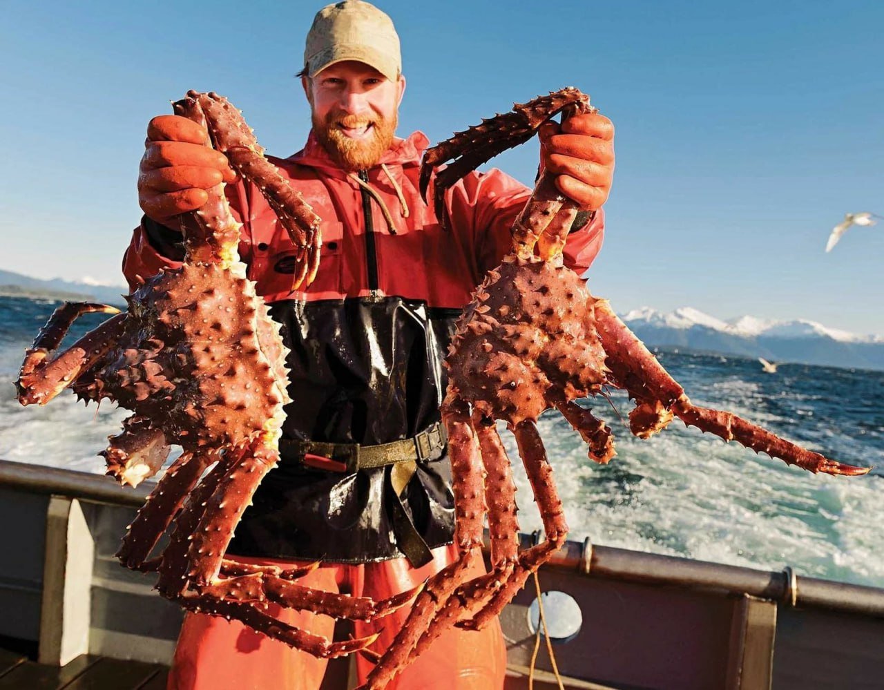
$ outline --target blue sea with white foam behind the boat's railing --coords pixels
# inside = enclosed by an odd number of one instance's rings
[[[103,472],[95,454],[118,433],[126,410],[88,408],[65,393],[23,408],[11,385],[24,350],[57,302],[0,297],[0,458]],[[80,318],[72,336],[103,315]],[[865,477],[829,477],[727,444],[679,420],[649,441],[623,420],[626,396],[591,401],[616,438],[617,456],[592,463],[557,413],[540,420],[570,538],[672,556],[884,586],[884,372],[781,364],[677,352],[659,359],[694,403],[730,410],[791,441],[851,464]],[[540,527],[515,444],[523,531]],[[109,479],[110,481],[110,479]]]

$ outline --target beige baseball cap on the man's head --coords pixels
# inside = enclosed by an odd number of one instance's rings
[[[304,73],[314,77],[344,60],[370,65],[391,81],[399,79],[402,56],[392,19],[362,0],[344,0],[316,12],[304,48]]]

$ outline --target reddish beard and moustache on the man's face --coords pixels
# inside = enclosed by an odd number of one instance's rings
[[[377,165],[386,149],[392,144],[398,117],[392,119],[377,116],[376,119],[359,115],[347,115],[341,111],[330,111],[324,120],[313,115],[313,131],[316,138],[332,158],[345,170],[368,170]],[[350,139],[340,130],[340,126],[359,127],[370,125],[369,136],[365,139]]]

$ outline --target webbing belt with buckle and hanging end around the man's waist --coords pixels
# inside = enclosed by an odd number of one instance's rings
[[[358,470],[385,467],[390,469],[390,483],[395,501],[392,502],[392,528],[396,546],[416,567],[430,563],[432,553],[427,542],[415,528],[401,495],[417,471],[418,461],[438,459],[446,447],[445,426],[435,422],[413,438],[375,446],[359,443],[325,443],[323,441],[279,441],[280,455],[293,458],[317,470],[352,474]]]

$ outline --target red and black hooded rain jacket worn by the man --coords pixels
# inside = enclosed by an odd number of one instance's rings
[[[271,158],[322,219],[316,280],[292,292],[293,243],[255,185],[227,187],[243,224],[240,257],[271,316],[286,327],[291,370],[283,439],[372,445],[414,437],[438,422],[441,362],[454,319],[484,273],[510,248],[510,227],[530,189],[493,169],[469,173],[446,193],[451,230],[418,192],[428,140],[396,140],[360,173],[377,199],[334,163],[311,133],[303,150]],[[583,214],[588,217],[588,214]],[[391,226],[392,225],[392,226]],[[565,261],[583,272],[598,254],[604,215],[572,230]],[[179,265],[180,234],[145,219],[126,251],[130,284]],[[445,450],[418,464],[402,495],[390,467],[351,474],[307,467],[282,452],[237,527],[232,554],[368,563],[402,556],[416,532],[450,543],[453,497]],[[415,563],[420,564],[420,563]]]

